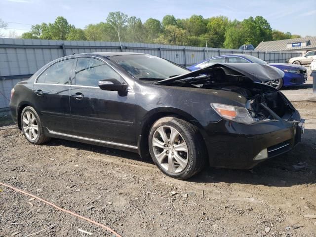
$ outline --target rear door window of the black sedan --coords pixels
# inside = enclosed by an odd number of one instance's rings
[[[37,83],[69,84],[69,77],[75,59],[67,59],[51,65],[37,80]]]

